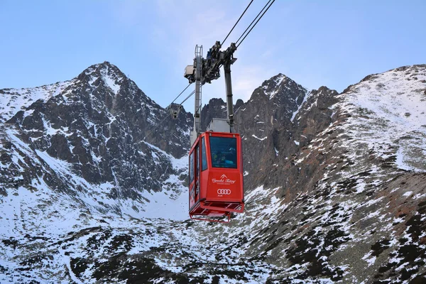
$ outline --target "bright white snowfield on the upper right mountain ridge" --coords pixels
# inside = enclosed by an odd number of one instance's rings
[[[426,67],[414,65],[370,75],[342,94],[336,107],[352,114],[346,147],[366,147],[398,168],[426,170]]]

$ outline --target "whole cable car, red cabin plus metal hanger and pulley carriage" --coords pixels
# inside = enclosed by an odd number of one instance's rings
[[[219,41],[202,58],[202,46],[195,47],[194,64],[185,68],[184,77],[195,82],[194,129],[190,133],[189,213],[191,219],[229,222],[231,213],[244,211],[243,159],[241,136],[234,133],[231,64],[236,60],[235,43],[221,51]],[[223,65],[228,119],[213,119],[203,133],[201,126],[201,86],[219,78]],[[184,101],[185,102],[185,101]],[[225,219],[218,219],[226,217]]]

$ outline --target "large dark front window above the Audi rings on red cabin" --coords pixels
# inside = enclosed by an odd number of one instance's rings
[[[212,167],[236,168],[236,138],[210,136]]]

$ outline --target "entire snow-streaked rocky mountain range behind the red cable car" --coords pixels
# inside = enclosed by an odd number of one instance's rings
[[[152,131],[166,110],[114,65],[0,98],[1,283],[426,281],[426,65],[237,102],[229,224],[186,219],[190,115]]]

